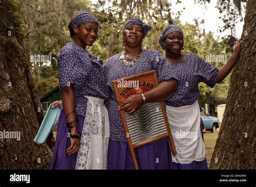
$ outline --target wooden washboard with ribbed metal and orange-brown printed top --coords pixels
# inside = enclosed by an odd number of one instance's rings
[[[117,103],[119,106],[122,106],[130,95],[149,91],[156,88],[159,83],[156,70],[152,70],[113,81],[112,84]],[[120,116],[135,169],[139,168],[134,154],[134,148],[163,139],[167,136],[171,143],[172,154],[176,155],[164,102],[145,103],[133,115],[120,111]]]

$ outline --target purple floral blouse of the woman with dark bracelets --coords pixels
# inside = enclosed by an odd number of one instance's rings
[[[73,43],[66,44],[59,52],[57,60],[59,89],[74,85],[76,114],[85,116],[87,108],[85,96],[109,98],[102,63],[86,49]]]

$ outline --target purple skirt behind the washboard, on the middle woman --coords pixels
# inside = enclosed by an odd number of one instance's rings
[[[134,149],[139,169],[171,169],[172,155],[167,138]],[[134,169],[128,143],[109,142],[108,169]]]

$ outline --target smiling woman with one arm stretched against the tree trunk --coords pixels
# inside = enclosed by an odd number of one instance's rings
[[[241,39],[234,53],[220,69],[211,66],[199,56],[183,54],[183,31],[177,25],[164,28],[159,44],[166,52],[170,69],[176,73],[178,91],[165,101],[167,117],[172,131],[177,155],[172,155],[172,169],[207,169],[203,128],[200,125],[200,95],[198,83],[211,88],[221,83],[234,67],[240,52]],[[218,122],[218,121],[216,121]],[[213,124],[212,131],[218,127]]]

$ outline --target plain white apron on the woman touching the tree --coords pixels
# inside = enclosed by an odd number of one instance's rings
[[[177,155],[172,155],[172,162],[190,164],[193,161],[205,160],[198,101],[180,107],[166,105],[166,113],[177,150]]]

